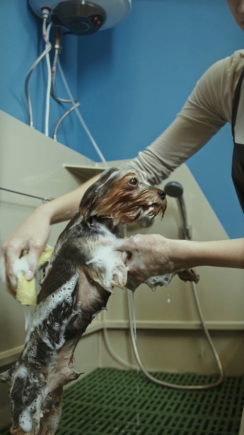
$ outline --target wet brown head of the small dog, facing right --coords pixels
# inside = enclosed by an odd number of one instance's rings
[[[166,204],[165,192],[148,183],[144,172],[114,166],[86,190],[80,215],[88,225],[93,216],[112,218],[113,225],[129,224],[159,213],[163,217]]]

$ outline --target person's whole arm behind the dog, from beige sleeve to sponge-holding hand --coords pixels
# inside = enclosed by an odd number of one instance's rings
[[[198,82],[176,120],[132,161],[132,165],[147,173],[151,183],[160,183],[172,170],[198,151],[226,120],[231,119],[232,94],[239,77],[240,65],[236,55],[236,58],[231,56],[212,66]],[[29,252],[30,269],[26,278],[31,279],[37,259],[49,237],[50,225],[70,219],[78,209],[84,191],[96,179],[97,177],[82,184],[75,191],[40,206],[4,242],[2,252],[7,274],[13,280],[13,285],[16,283],[13,263],[19,258],[21,251],[25,249]]]

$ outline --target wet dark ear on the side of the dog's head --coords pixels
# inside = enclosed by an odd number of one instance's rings
[[[88,225],[89,218],[96,216],[101,199],[107,193],[107,189],[104,186],[105,183],[113,177],[115,172],[118,172],[118,169],[114,166],[103,171],[100,178],[95,183],[91,184],[91,186],[85,191],[81,199],[79,212],[80,216],[83,216],[84,221]]]

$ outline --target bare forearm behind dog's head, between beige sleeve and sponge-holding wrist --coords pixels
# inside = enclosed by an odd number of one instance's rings
[[[95,175],[85,183],[81,184],[77,189],[72,190],[48,203],[45,203],[38,207],[37,212],[45,214],[50,224],[57,224],[71,219],[79,208],[79,204],[86,189],[95,183],[100,177]]]

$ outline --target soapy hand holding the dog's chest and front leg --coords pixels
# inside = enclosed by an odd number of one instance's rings
[[[128,252],[125,265],[134,284],[139,285],[151,276],[175,270],[170,260],[172,242],[160,234],[137,234],[117,240],[115,249]]]

